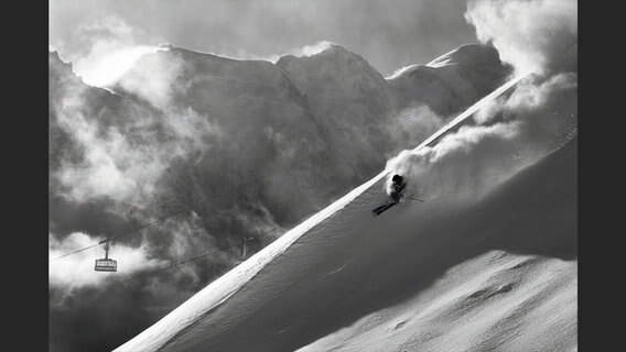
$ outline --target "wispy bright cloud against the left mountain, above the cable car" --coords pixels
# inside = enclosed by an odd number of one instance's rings
[[[148,63],[154,61],[150,57]],[[209,138],[220,133],[207,117],[191,107],[170,103],[180,89],[175,86],[180,67],[159,65],[148,65],[154,69],[149,77],[141,69],[139,76],[145,78],[144,84],[132,76],[122,80],[122,86],[162,110],[109,96],[107,99],[119,100],[120,107],[111,111],[111,105],[101,100],[107,94],[80,84],[58,89],[58,99],[51,101],[55,123],[72,138],[82,155],[78,161],[72,154],[63,158],[51,176],[75,201],[99,197],[151,201],[158,194],[155,183],[172,161],[206,152]]]

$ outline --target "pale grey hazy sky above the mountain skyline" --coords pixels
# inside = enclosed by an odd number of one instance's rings
[[[384,76],[477,43],[464,0],[51,0],[50,44],[71,61],[80,33],[115,19],[134,44],[170,43],[236,58],[276,58],[330,41],[358,53]]]

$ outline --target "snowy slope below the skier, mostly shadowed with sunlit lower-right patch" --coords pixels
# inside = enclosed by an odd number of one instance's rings
[[[473,207],[371,218],[376,184],[161,351],[293,351],[343,327],[304,350],[571,351],[575,161],[573,140]]]

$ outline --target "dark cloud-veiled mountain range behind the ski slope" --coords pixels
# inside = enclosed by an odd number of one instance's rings
[[[259,229],[289,229],[421,141],[411,130],[419,124],[396,124],[399,116],[428,108],[442,124],[509,72],[484,45],[462,46],[388,79],[339,45],[276,64],[168,47],[102,89],[83,84],[51,53],[52,230],[101,234],[64,211],[90,204],[95,217],[105,217],[99,206],[121,201],[134,212],[107,217],[122,224],[130,213],[192,209],[198,235],[218,246]],[[102,165],[132,178],[134,188],[123,188],[119,176],[108,190],[94,179],[80,197],[64,196]]]

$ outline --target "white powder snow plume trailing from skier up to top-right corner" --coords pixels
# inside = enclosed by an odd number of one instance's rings
[[[535,163],[578,125],[575,1],[472,1],[466,20],[516,73],[531,72],[510,94],[486,103],[474,123],[436,145],[388,162],[409,188],[429,197],[479,196]],[[524,25],[522,25],[524,24]]]

